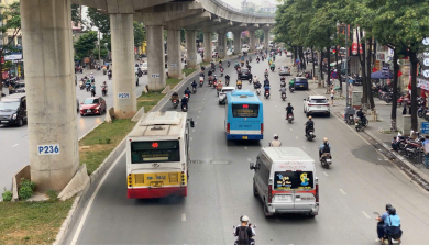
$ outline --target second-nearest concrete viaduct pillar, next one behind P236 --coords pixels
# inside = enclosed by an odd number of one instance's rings
[[[113,64],[114,116],[131,119],[138,110],[135,101],[133,14],[110,14]]]

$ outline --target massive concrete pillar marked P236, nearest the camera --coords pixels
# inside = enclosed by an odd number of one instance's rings
[[[31,179],[42,192],[79,167],[70,23],[70,0],[21,0]]]

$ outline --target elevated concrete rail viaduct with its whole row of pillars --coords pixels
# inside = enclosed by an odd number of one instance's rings
[[[210,62],[212,32],[219,35],[219,56],[224,58],[228,32],[239,38],[234,42],[239,53],[241,32],[249,30],[254,51],[255,30],[263,29],[267,37],[275,23],[273,14],[243,13],[221,0],[21,0],[31,177],[42,191],[62,190],[79,167],[72,3],[110,15],[117,119],[136,113],[133,21],[146,27],[150,90],[166,86],[164,30],[168,74],[179,77],[180,29],[186,30],[188,67],[196,68],[197,31],[205,36],[204,60]],[[270,38],[264,40],[268,47]],[[41,155],[38,147],[45,145],[57,145],[58,153]]]

